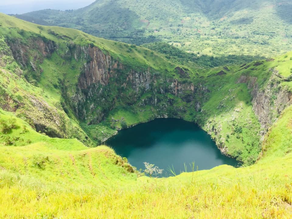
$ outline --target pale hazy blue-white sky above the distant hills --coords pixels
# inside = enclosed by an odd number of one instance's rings
[[[22,14],[42,9],[78,9],[95,0],[0,0],[0,12]]]

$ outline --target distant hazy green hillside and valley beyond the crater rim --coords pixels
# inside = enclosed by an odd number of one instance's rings
[[[282,0],[103,0],[16,16],[137,45],[163,40],[198,54],[270,57],[292,50],[291,9]]]

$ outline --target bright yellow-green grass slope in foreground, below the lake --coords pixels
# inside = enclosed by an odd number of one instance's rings
[[[106,146],[1,146],[0,218],[291,218],[291,121],[289,107],[255,165],[162,179],[127,172]]]

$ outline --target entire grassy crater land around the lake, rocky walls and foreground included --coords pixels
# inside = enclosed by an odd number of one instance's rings
[[[0,14],[0,218],[291,218],[292,52],[210,68],[225,58],[147,47]],[[163,116],[244,167],[156,179],[94,147]]]

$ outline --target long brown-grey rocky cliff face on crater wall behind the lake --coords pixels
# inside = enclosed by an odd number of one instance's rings
[[[140,100],[140,106],[157,105],[160,98],[156,93],[179,96],[189,92],[189,97],[186,97],[189,102],[193,101],[195,92],[206,90],[178,79],[162,79],[151,68],[137,71],[128,67],[130,70],[126,70],[122,63],[97,47],[74,46],[68,54],[76,61],[84,62],[76,93],[71,97],[71,107],[78,118],[86,120],[88,124],[101,122],[114,108],[116,101],[133,105],[145,92],[152,91],[153,95]],[[199,102],[196,105],[200,107]]]

